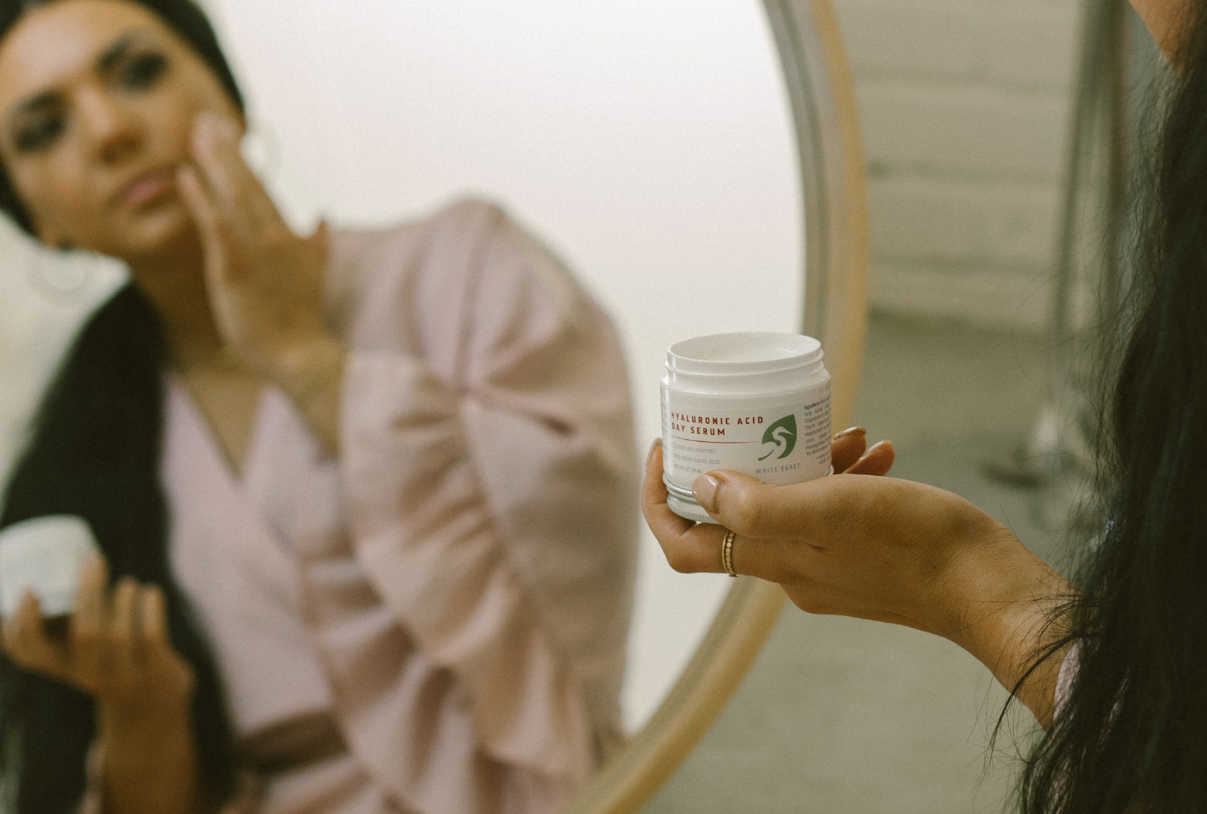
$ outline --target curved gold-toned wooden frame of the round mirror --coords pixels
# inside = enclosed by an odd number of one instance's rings
[[[820,336],[836,427],[855,410],[867,329],[868,192],[851,70],[829,0],[764,0],[792,105],[805,221],[804,333]],[[783,608],[783,591],[737,579],[658,710],[567,814],[632,814],[712,725]]]

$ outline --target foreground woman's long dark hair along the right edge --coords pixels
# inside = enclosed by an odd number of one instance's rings
[[[1106,532],[1065,608],[1079,669],[1025,814],[1207,812],[1207,12],[1186,21],[1106,402]]]

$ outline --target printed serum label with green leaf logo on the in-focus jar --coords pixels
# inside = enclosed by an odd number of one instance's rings
[[[829,387],[816,400],[757,410],[663,405],[663,464],[669,480],[690,488],[712,469],[733,469],[769,484],[799,484],[830,467]]]

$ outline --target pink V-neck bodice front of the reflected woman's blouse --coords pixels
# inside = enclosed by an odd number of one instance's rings
[[[281,528],[293,520],[298,485],[313,474],[303,463],[313,446],[301,443],[287,397],[264,388],[243,479],[227,465],[187,388],[170,381],[167,402],[163,476],[174,509],[173,568],[214,638],[220,668],[233,670],[223,675],[239,690],[239,733],[279,720],[278,711],[330,708],[302,609],[292,529]],[[272,670],[282,668],[288,677],[278,684]]]

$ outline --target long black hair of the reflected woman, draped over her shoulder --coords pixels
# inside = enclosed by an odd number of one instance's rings
[[[27,11],[53,0],[0,0],[0,41]],[[140,0],[210,65],[239,109],[243,98],[205,16],[191,0]],[[34,223],[0,166],[0,209]],[[113,579],[159,585],[173,646],[196,675],[192,734],[205,807],[231,797],[232,730],[212,652],[173,579],[168,504],[159,480],[165,346],[133,283],[84,324],[39,410],[5,494],[0,527],[51,514],[88,521]],[[19,814],[68,814],[84,789],[95,737],[93,699],[0,655],[0,771]],[[13,784],[16,789],[13,790]]]

